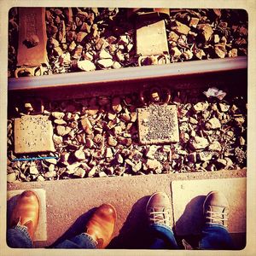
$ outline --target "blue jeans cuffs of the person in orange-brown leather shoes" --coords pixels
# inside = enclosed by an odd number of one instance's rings
[[[26,227],[17,225],[15,228],[7,230],[7,244],[12,248],[32,248],[32,240]],[[55,248],[84,248],[95,249],[96,241],[86,233],[74,236],[70,240],[62,241]]]

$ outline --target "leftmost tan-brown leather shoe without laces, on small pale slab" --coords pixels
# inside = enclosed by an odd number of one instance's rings
[[[34,233],[38,227],[38,218],[38,195],[31,190],[22,192],[13,209],[10,218],[10,226],[14,227],[17,224],[26,226],[27,232],[33,241]]]

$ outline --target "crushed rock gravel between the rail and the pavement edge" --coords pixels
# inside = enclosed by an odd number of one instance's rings
[[[8,181],[28,182],[181,172],[238,170],[247,162],[247,102],[242,96],[207,98],[201,90],[172,91],[179,142],[140,145],[138,95],[44,102],[54,126],[55,153],[14,154],[14,118],[34,114],[34,102],[17,102],[8,120]],[[16,157],[57,159],[12,161]]]

